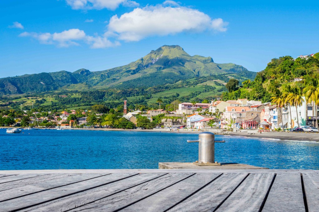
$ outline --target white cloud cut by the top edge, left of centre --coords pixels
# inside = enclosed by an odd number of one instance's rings
[[[137,7],[139,4],[131,0],[65,0],[73,10],[115,10],[120,4],[125,7]]]

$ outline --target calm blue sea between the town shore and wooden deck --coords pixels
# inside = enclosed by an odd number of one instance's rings
[[[24,132],[24,133],[22,133]],[[0,129],[0,170],[156,169],[158,162],[193,162],[198,134]],[[28,134],[30,133],[30,134]],[[220,139],[223,136],[218,136]],[[274,169],[319,169],[319,144],[223,137],[215,160]]]

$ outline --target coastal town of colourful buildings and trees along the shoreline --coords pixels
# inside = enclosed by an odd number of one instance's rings
[[[150,123],[156,119],[152,128],[165,129],[262,129],[262,130],[287,130],[297,126],[316,126],[318,109],[305,101],[297,107],[279,108],[272,102],[262,103],[248,99],[237,99],[223,101],[217,98],[211,103],[182,102],[174,111],[165,109],[157,110],[132,110],[126,108],[124,102],[123,113],[119,115],[134,125],[131,129],[138,127],[139,118],[144,117]],[[103,105],[97,105],[103,107]],[[280,110],[280,111],[279,111]],[[114,111],[114,110],[113,110]],[[26,110],[22,111],[23,117],[28,117]],[[109,113],[110,111],[108,111]],[[2,119],[11,118],[14,122],[10,126],[40,126],[55,128],[113,128],[113,124],[105,122],[108,113],[98,113],[93,110],[64,110],[61,112],[32,112],[32,116],[23,123],[23,117],[11,117],[12,113],[3,115]],[[111,113],[115,113],[111,111]],[[90,120],[91,119],[91,120]],[[93,120],[92,120],[93,119]],[[160,120],[158,120],[160,119]],[[22,122],[22,124],[21,124]],[[6,124],[3,124],[6,125]],[[144,128],[144,127],[142,127]]]

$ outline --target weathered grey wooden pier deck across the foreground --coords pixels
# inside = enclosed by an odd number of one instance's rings
[[[0,211],[319,211],[319,171],[0,171]]]

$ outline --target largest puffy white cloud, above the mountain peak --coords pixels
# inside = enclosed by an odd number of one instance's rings
[[[120,40],[138,41],[155,35],[227,30],[228,23],[221,18],[212,20],[207,14],[179,6],[174,1],[165,1],[165,3],[171,6],[163,6],[163,4],[146,6],[124,13],[120,17],[113,16],[108,24],[108,33],[116,33],[117,39]]]

